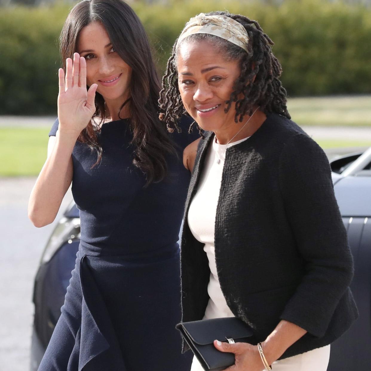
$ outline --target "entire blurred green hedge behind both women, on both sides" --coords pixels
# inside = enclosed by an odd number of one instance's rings
[[[259,21],[275,42],[290,96],[371,93],[371,9],[325,0],[282,5],[242,1],[135,3],[164,71],[185,22],[228,9]],[[12,7],[0,12],[0,114],[56,111],[58,36],[68,7]]]

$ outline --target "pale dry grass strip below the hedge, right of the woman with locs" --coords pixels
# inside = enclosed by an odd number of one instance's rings
[[[289,98],[288,110],[298,125],[371,127],[370,95]]]

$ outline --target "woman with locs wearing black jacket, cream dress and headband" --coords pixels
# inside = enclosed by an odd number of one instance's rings
[[[290,120],[272,45],[256,21],[201,13],[168,61],[161,119],[173,129],[187,112],[206,131],[184,150],[182,322],[251,327],[251,344],[214,341],[235,354],[227,371],[325,371],[358,315],[353,262],[328,160]]]

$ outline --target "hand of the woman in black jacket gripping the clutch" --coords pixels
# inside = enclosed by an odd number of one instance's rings
[[[264,365],[260,358],[257,346],[247,343],[229,344],[214,340],[214,346],[221,352],[234,353],[235,362],[233,366],[224,371],[263,371]]]

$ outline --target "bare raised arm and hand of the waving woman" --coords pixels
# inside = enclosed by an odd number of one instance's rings
[[[59,69],[58,119],[56,137],[50,137],[48,156],[32,189],[28,216],[36,227],[55,219],[72,181],[72,150],[94,111],[96,84],[86,91],[86,61],[75,53],[67,59],[66,77]]]

